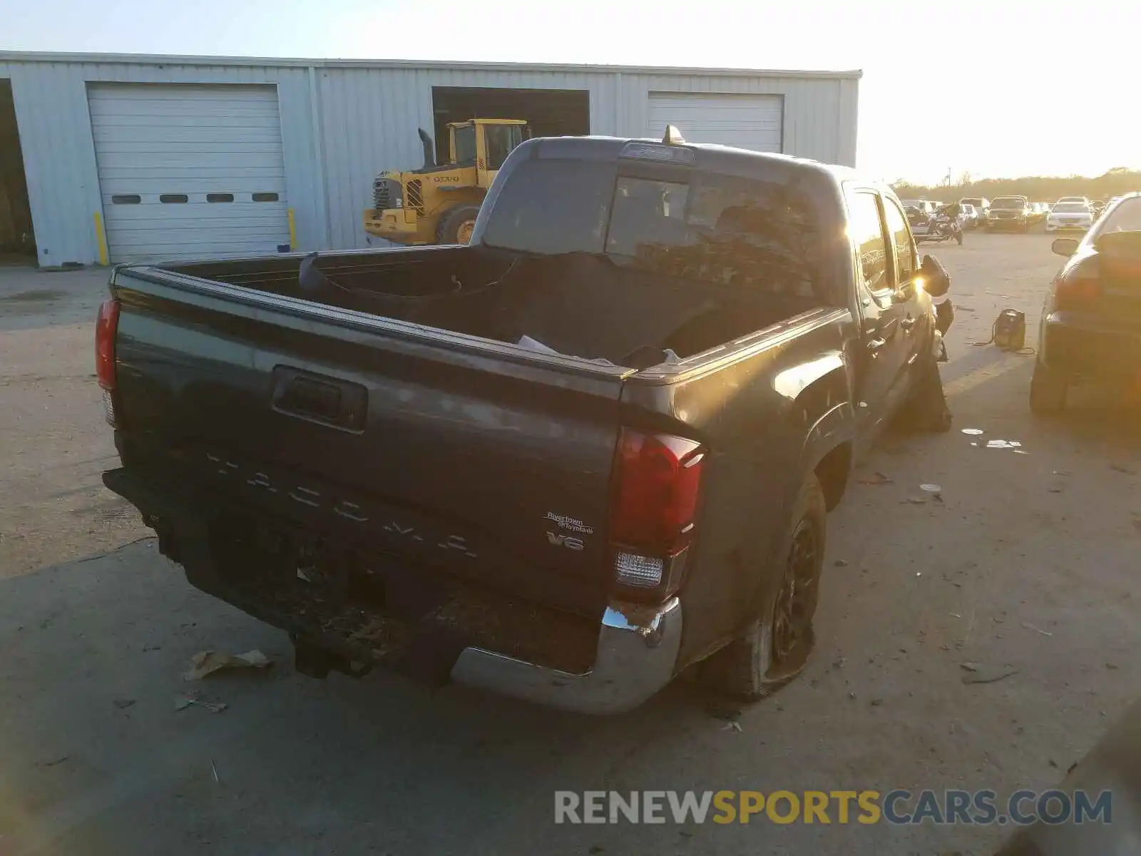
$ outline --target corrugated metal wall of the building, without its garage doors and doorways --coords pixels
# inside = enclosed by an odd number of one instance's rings
[[[0,58],[0,78],[11,79],[41,265],[99,258],[94,215],[100,201],[87,102],[87,84],[96,81],[275,83],[288,201],[302,250],[367,245],[361,216],[372,179],[380,169],[419,164],[415,129],[432,127],[432,87],[586,90],[591,132],[631,137],[646,134],[652,91],[783,95],[786,153],[856,161],[853,76]]]

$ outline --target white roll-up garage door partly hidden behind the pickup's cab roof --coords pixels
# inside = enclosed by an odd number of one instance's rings
[[[690,143],[779,152],[784,99],[779,95],[650,92],[648,136],[672,124]]]

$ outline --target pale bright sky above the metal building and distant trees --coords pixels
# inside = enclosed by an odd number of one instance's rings
[[[0,49],[861,68],[876,177],[1141,167],[1141,3],[0,0]]]

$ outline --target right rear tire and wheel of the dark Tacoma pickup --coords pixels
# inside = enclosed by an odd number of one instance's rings
[[[812,616],[820,593],[826,532],[824,490],[816,474],[809,473],[778,554],[783,563],[777,590],[771,599],[766,597],[761,617],[701,664],[704,686],[755,702],[800,675],[816,641]]]

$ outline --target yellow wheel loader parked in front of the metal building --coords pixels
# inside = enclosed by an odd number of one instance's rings
[[[531,136],[523,119],[451,122],[448,162],[436,164],[435,145],[423,128],[424,165],[407,172],[381,172],[373,181],[373,207],[364,231],[402,244],[466,244],[479,204],[503,161]]]

